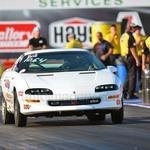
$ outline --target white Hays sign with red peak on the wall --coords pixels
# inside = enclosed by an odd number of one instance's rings
[[[91,46],[91,25],[94,21],[83,18],[69,18],[49,25],[49,44],[52,47],[64,47],[70,33],[76,35],[85,48]]]

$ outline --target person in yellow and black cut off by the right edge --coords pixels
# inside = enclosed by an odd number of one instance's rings
[[[150,35],[146,38],[142,51],[142,70],[145,69],[150,69]]]

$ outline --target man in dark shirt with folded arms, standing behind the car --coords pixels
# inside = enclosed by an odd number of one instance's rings
[[[110,55],[113,52],[113,46],[103,39],[101,32],[96,33],[97,43],[93,47],[94,54],[107,66],[112,65],[110,61]]]

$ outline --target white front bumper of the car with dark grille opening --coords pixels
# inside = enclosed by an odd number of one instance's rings
[[[42,113],[53,113],[53,112],[66,112],[66,111],[88,111],[88,110],[114,110],[120,109],[123,105],[122,93],[111,92],[101,93],[94,95],[94,99],[100,99],[99,103],[95,104],[79,104],[78,100],[93,99],[91,96],[86,97],[65,97],[60,99],[59,97],[49,97],[49,96],[24,96],[19,98],[20,111],[24,115],[38,115]],[[52,106],[49,104],[50,101],[72,101],[74,103],[69,103],[69,105],[57,105]]]

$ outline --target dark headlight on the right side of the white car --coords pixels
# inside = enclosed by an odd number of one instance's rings
[[[95,92],[104,92],[104,91],[113,91],[118,90],[118,86],[116,84],[105,84],[99,85],[95,87]]]

